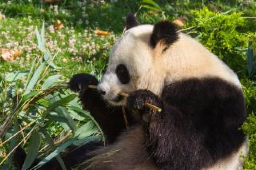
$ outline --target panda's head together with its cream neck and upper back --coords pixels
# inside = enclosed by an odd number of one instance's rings
[[[165,85],[187,78],[218,77],[240,87],[236,74],[172,22],[138,25],[127,19],[126,31],[110,53],[98,90],[114,105],[126,105],[119,92],[148,89],[159,97]]]

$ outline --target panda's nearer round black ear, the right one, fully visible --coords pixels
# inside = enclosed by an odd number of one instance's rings
[[[175,25],[170,21],[157,22],[154,25],[153,33],[150,37],[150,45],[155,48],[159,41],[162,41],[164,45],[171,45],[178,40],[178,32]]]

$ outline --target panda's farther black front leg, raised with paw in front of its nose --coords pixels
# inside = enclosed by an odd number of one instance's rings
[[[84,110],[88,110],[97,121],[107,142],[112,143],[126,128],[121,107],[109,107],[97,89],[88,85],[98,85],[98,80],[90,74],[79,73],[70,79],[70,89],[79,93],[79,99]]]

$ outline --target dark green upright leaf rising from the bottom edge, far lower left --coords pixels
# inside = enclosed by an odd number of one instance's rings
[[[40,134],[37,132],[36,129],[34,129],[29,138],[29,148],[27,152],[27,157],[22,166],[22,170],[27,170],[32,165],[32,163],[36,159],[39,147],[40,147]]]

